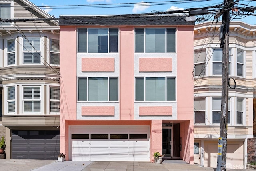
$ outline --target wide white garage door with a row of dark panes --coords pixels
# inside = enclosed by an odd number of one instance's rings
[[[70,127],[73,161],[149,161],[149,127]]]

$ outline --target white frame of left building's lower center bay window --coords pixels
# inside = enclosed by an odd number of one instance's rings
[[[34,99],[34,90],[32,90],[32,99],[24,99],[24,87],[40,87],[40,99]],[[42,86],[40,85],[23,85],[22,86],[22,113],[23,114],[41,114],[42,113]],[[32,101],[32,111],[24,111],[24,101]],[[33,101],[40,101],[40,111],[33,111],[34,105]]]

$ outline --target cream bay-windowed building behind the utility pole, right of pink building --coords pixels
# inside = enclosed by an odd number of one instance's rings
[[[216,167],[222,89],[221,22],[194,28],[194,163]],[[244,169],[256,109],[256,25],[230,22],[227,168]],[[231,86],[234,85],[232,79]]]

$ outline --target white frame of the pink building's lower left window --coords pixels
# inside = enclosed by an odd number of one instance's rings
[[[84,100],[79,100],[78,99],[78,91],[79,91],[79,85],[78,85],[78,80],[79,80],[79,78],[86,78],[86,101],[84,101]],[[107,101],[89,101],[88,100],[88,94],[89,94],[89,89],[88,89],[88,80],[89,80],[89,78],[108,78],[108,100]],[[110,83],[109,83],[109,80],[110,80],[110,78],[117,78],[117,83],[118,83],[118,86],[117,86],[117,98],[118,98],[118,100],[117,101],[110,101]],[[120,98],[120,96],[119,96],[119,77],[118,76],[79,76],[78,78],[77,78],[77,101],[78,102],[118,102],[119,101],[119,98]]]

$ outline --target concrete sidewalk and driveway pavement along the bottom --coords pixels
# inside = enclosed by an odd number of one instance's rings
[[[64,161],[0,159],[1,171],[214,171],[210,167],[200,167],[186,163],[162,164],[147,161]],[[226,169],[227,171],[251,171]]]

